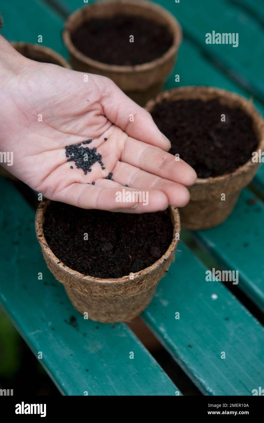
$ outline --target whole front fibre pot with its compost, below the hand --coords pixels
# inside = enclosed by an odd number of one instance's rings
[[[47,266],[72,305],[103,323],[131,321],[147,307],[174,261],[180,233],[171,207],[127,214],[44,200],[35,224]]]

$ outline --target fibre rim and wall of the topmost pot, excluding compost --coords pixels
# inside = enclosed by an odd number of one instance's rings
[[[120,14],[145,18],[153,21],[153,25],[164,25],[172,36],[172,44],[160,57],[148,63],[131,64],[129,66],[103,63],[96,58],[88,57],[75,47],[72,34],[85,22],[92,19],[112,19]],[[104,28],[102,28],[103,31]],[[137,34],[132,35],[135,36],[134,43],[136,43]],[[69,50],[74,69],[111,78],[134,101],[144,105],[147,100],[161,91],[164,81],[172,71],[181,44],[182,31],[174,16],[154,3],[137,0],[108,0],[84,6],[70,15],[64,27],[63,39]],[[104,39],[107,44],[107,31],[104,33]],[[86,42],[91,42],[89,36]],[[129,47],[128,37],[127,43]],[[111,45],[98,46],[98,51],[105,49],[111,49]],[[126,53],[124,52],[125,56]]]

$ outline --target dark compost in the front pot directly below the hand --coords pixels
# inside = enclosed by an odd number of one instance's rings
[[[84,210],[52,201],[44,236],[59,261],[84,275],[116,278],[155,263],[168,249],[168,210],[130,214]],[[88,240],[84,240],[88,233]]]

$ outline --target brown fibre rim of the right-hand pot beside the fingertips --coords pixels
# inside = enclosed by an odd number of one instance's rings
[[[210,87],[205,85],[188,85],[183,86],[179,88],[172,88],[170,90],[164,91],[156,96],[155,99],[151,99],[147,102],[145,105],[145,109],[151,113],[151,110],[153,109],[154,105],[157,103],[160,103],[162,100],[173,100],[175,94],[180,94],[177,99],[181,98],[181,94],[186,94],[188,91],[191,93],[192,99],[197,98],[201,99],[201,96],[208,96],[208,99],[216,98],[218,100],[224,100],[223,103],[225,103],[225,100],[227,100],[226,104],[231,106],[230,100],[233,102],[233,104],[236,103],[237,106],[241,107],[242,110],[245,111],[253,120],[253,123],[256,124],[256,122],[261,122],[261,128],[257,132],[255,129],[256,136],[258,138],[258,146],[257,149],[261,149],[261,151],[264,149],[264,121],[260,113],[256,110],[256,107],[253,104],[253,101],[248,100],[246,97],[241,96],[237,93],[233,93],[232,91],[224,90],[222,88],[217,87]],[[193,96],[193,94],[197,94],[197,96]],[[186,96],[183,97],[184,99],[187,99]],[[228,102],[229,101],[229,102]],[[231,106],[232,107],[232,106]],[[228,179],[233,178],[234,176],[238,176],[242,173],[246,173],[250,168],[253,168],[257,163],[252,162],[252,157],[250,157],[247,162],[244,165],[239,166],[231,173],[224,173],[223,175],[219,176],[210,176],[208,178],[197,178],[195,185],[204,185],[204,184],[215,184],[222,181],[227,181]],[[195,186],[194,185],[194,186]]]

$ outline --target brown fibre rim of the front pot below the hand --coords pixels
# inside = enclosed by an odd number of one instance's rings
[[[41,248],[45,251],[45,253],[49,256],[50,260],[58,266],[63,272],[68,272],[72,277],[82,279],[84,281],[87,281],[89,283],[92,283],[94,285],[122,285],[125,282],[128,282],[130,280],[130,275],[122,276],[120,278],[108,278],[103,279],[100,277],[93,277],[93,276],[86,276],[83,275],[83,273],[78,272],[77,270],[73,270],[70,267],[64,265],[53,253],[53,251],[50,249],[43,233],[43,222],[44,222],[44,214],[47,209],[47,207],[50,205],[50,200],[44,199],[40,204],[36,211],[36,217],[35,217],[35,229],[36,229],[36,236],[39,241],[39,244]],[[133,280],[136,281],[138,278],[142,277],[143,275],[147,275],[150,272],[153,272],[153,270],[157,269],[164,261],[167,261],[167,259],[170,257],[171,253],[175,251],[176,246],[178,244],[178,239],[175,239],[175,233],[181,232],[181,223],[180,223],[180,215],[178,212],[178,209],[175,207],[170,208],[170,215],[173,217],[174,223],[172,222],[173,226],[173,237],[172,242],[170,243],[167,251],[159,258],[157,261],[155,261],[153,264],[151,264],[148,267],[145,267],[145,269],[140,270],[139,272],[135,272]],[[58,263],[59,262],[59,263]]]

